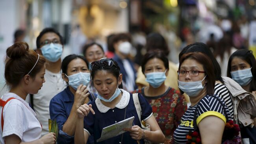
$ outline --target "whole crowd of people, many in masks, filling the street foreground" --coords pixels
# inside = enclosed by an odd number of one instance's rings
[[[53,28],[6,50],[0,99],[1,144],[256,144],[256,60],[239,49],[228,61],[204,43],[182,49],[178,66],[159,33],[147,36],[135,66],[128,33],[109,37],[109,52],[87,43],[83,55],[61,59]],[[218,57],[219,56],[219,57]],[[219,60],[225,61],[223,76]],[[134,117],[124,133],[97,142],[102,129]],[[49,133],[48,119],[58,133]]]

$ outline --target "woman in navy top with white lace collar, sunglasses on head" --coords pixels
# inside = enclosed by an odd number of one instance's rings
[[[117,63],[113,59],[103,58],[91,63],[91,68],[91,83],[98,91],[98,96],[95,101],[83,104],[77,109],[75,143],[85,144],[89,135],[94,135],[96,144],[103,128],[133,116],[135,119],[132,128],[124,129],[127,132],[97,144],[143,144],[143,139],[164,142],[165,137],[152,115],[151,106],[138,94],[141,119],[150,125],[151,131],[140,127],[133,96],[121,89],[122,74]]]

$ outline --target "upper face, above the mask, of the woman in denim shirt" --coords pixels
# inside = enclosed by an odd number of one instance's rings
[[[83,59],[76,58],[70,61],[67,67],[67,76],[76,74],[78,72],[87,72],[89,73],[89,70],[87,68],[87,65]]]

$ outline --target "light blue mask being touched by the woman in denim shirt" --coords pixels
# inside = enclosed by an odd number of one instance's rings
[[[67,75],[66,75],[67,76]],[[76,74],[72,74],[67,76],[69,78],[69,85],[72,86],[75,90],[77,90],[78,86],[83,84],[88,86],[90,83],[90,73],[87,72],[78,72]]]

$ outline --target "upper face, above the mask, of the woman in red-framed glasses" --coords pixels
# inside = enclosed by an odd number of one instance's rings
[[[183,61],[183,63],[180,65],[180,70],[197,70],[197,71],[204,71],[204,67],[202,64],[198,63],[195,59],[186,59]],[[193,71],[192,71],[193,72]],[[201,81],[204,79],[205,73],[199,73],[198,76],[190,76],[189,72],[186,73],[185,76],[178,76],[179,81],[183,82],[192,82],[192,81]],[[202,85],[204,85],[206,79],[202,81]]]

